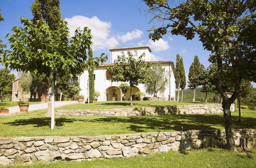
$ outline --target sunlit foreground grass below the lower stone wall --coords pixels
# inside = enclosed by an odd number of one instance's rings
[[[162,152],[131,158],[96,159],[92,161],[36,162],[6,167],[255,167],[256,150],[246,153],[218,148]]]

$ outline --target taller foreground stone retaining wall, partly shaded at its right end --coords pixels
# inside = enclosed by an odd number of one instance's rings
[[[233,130],[236,146],[245,138],[247,148],[256,147],[255,129]],[[183,145],[181,144],[181,139]],[[91,160],[147,155],[169,150],[189,150],[226,144],[224,130],[150,132],[101,136],[46,136],[0,138],[0,165],[37,160]]]

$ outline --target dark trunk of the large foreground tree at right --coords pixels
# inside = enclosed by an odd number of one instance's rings
[[[228,150],[236,150],[236,146],[234,144],[234,137],[232,132],[232,118],[230,112],[230,101],[228,99],[223,99],[222,107],[224,113],[224,125],[227,139],[227,149]]]

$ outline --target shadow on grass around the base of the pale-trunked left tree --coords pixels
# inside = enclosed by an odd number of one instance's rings
[[[70,119],[66,117],[56,118],[55,125],[63,126],[65,123],[73,123],[76,121],[83,121],[81,119]],[[41,117],[41,118],[30,118],[30,119],[18,119],[13,122],[3,123],[11,126],[20,126],[20,125],[34,125],[33,127],[43,127],[50,126],[51,118]]]

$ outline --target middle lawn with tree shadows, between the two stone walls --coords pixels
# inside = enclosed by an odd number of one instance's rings
[[[133,117],[56,117],[56,129],[50,130],[46,110],[28,114],[0,116],[0,137],[14,136],[75,136],[103,135],[155,131],[224,129],[223,114],[165,115]],[[256,128],[256,111],[242,110],[242,124],[238,112],[232,113],[233,128]]]

